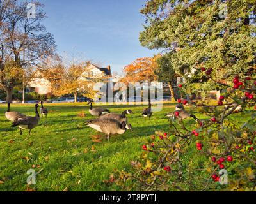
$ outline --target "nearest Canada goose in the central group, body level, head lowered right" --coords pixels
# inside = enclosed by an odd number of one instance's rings
[[[105,133],[107,140],[109,140],[110,135],[123,134],[126,129],[132,129],[131,124],[108,118],[88,120],[85,124],[101,133]]]

